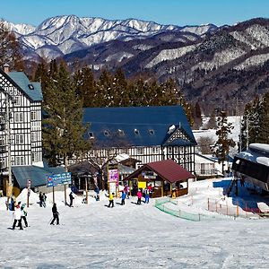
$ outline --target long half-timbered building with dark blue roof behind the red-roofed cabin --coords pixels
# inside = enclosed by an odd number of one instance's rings
[[[195,137],[180,106],[85,108],[91,152],[82,159],[106,159],[126,153],[145,163],[173,160],[195,172]]]

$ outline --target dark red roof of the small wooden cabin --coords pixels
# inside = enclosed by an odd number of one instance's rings
[[[195,178],[187,169],[184,169],[178,163],[172,160],[154,161],[144,164],[143,167],[134,171],[129,177],[125,179],[135,178],[144,169],[150,169],[158,174],[163,180],[167,180],[170,183],[177,181],[185,181],[188,178]]]

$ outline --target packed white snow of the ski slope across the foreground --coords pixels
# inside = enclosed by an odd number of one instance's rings
[[[201,212],[206,195],[219,197],[213,179],[190,184],[196,210]],[[202,189],[205,192],[202,192]],[[201,190],[201,191],[199,191]],[[68,192],[67,192],[68,194]],[[185,204],[186,197],[178,198]],[[18,197],[25,202],[26,191]],[[64,193],[56,192],[60,225],[49,225],[52,194],[40,208],[38,194],[30,194],[28,222],[24,230],[9,230],[13,213],[0,198],[1,268],[268,268],[268,224],[266,219],[221,219],[187,221],[163,213],[150,204],[126,205],[108,198],[90,198],[74,207],[64,205]],[[230,198],[229,198],[230,199]],[[199,202],[200,200],[200,202]],[[199,206],[199,204],[201,206]],[[203,205],[203,206],[202,206]],[[194,209],[192,210],[194,211]]]

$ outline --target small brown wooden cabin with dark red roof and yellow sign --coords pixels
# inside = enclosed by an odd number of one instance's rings
[[[136,195],[138,188],[151,185],[154,198],[166,195],[187,195],[189,178],[195,178],[195,176],[175,161],[164,160],[144,164],[124,181],[130,187],[131,195]]]

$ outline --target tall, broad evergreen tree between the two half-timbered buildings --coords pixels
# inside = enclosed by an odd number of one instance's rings
[[[83,139],[86,127],[82,126],[82,101],[75,94],[65,66],[60,65],[57,73],[51,74],[49,99],[44,104],[47,118],[43,121],[43,145],[49,162],[64,163],[66,168],[68,159],[88,152],[90,144]]]

